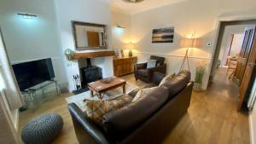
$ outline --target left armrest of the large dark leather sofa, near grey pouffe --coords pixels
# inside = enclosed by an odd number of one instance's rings
[[[102,130],[84,116],[80,108],[74,104],[68,104],[68,110],[73,119],[73,126],[79,143],[106,143],[110,142],[103,135]]]

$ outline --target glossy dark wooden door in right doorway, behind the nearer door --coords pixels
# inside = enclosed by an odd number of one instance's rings
[[[255,35],[255,26],[246,28],[244,33],[243,43],[241,46],[241,52],[238,57],[238,63],[237,63],[236,72],[235,72],[235,77],[237,78],[238,84],[240,86],[247,68],[247,60],[253,48],[254,35]]]

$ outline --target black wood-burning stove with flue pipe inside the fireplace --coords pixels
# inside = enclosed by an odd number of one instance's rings
[[[82,88],[86,88],[87,84],[102,79],[102,69],[98,66],[91,66],[90,58],[86,59],[87,66],[80,68]]]

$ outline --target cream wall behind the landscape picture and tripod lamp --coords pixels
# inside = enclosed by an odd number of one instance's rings
[[[181,38],[190,37],[195,33],[195,37],[200,38],[202,46],[190,50],[189,57],[192,65],[200,60],[207,62],[207,72],[203,80],[203,87],[206,89],[210,74],[209,65],[215,49],[213,45],[206,45],[216,41],[214,28],[217,27],[218,17],[255,14],[255,7],[255,0],[193,0],[133,14],[131,36],[137,42],[139,61],[147,60],[149,55],[163,55],[167,58],[168,72],[178,72],[182,56],[185,54],[185,49],[180,48]],[[174,43],[151,43],[152,29],[168,26],[175,27]],[[192,78],[195,78],[195,65],[191,69]]]

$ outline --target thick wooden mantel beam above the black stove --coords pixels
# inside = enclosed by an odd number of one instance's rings
[[[86,59],[86,58],[96,58],[96,57],[105,57],[113,56],[114,51],[94,51],[94,52],[83,52],[73,54],[73,60]]]

